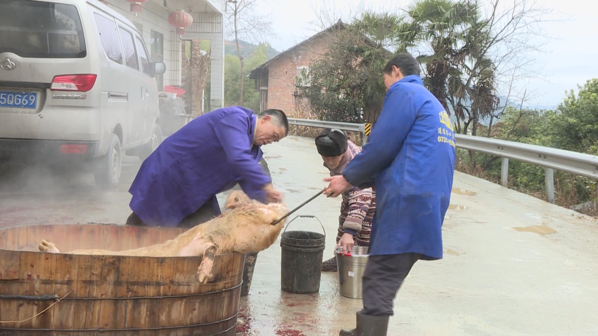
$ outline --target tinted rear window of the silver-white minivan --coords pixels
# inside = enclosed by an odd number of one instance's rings
[[[0,1],[0,53],[22,57],[86,56],[77,7],[30,0]]]

